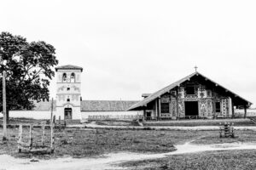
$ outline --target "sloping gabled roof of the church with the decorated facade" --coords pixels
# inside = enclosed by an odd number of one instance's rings
[[[190,74],[189,76],[183,77],[181,80],[179,80],[179,81],[177,81],[177,82],[173,82],[171,85],[167,86],[166,88],[162,88],[162,89],[160,89],[159,91],[155,92],[154,94],[149,95],[146,99],[143,99],[142,101],[138,102],[137,104],[132,105],[132,106],[128,109],[128,111],[131,111],[131,110],[134,110],[134,109],[136,109],[136,108],[143,107],[143,106],[147,105],[149,102],[153,101],[154,99],[160,98],[160,96],[161,96],[162,94],[166,94],[167,92],[170,92],[170,90],[172,90],[173,88],[176,88],[176,87],[179,86],[181,83],[183,83],[183,82],[189,80],[191,77],[194,77],[194,76],[201,76],[201,77],[206,78],[208,81],[210,81],[210,82],[212,82],[212,83],[218,84],[218,83],[216,83],[216,82],[213,82],[213,81],[210,80],[209,78],[203,76],[201,73],[195,71],[194,73]],[[221,88],[224,88],[223,86],[221,86],[221,85],[219,85],[219,84],[218,84],[218,86],[221,87]],[[241,98],[239,95],[237,95],[237,94],[231,92],[231,91],[228,90],[227,88],[224,88],[224,89],[226,89],[227,91],[229,91],[230,94],[233,94],[233,95],[235,95],[235,96],[238,97],[238,98]],[[241,98],[241,100],[246,101],[249,105],[252,104],[251,102],[247,101],[246,99]]]

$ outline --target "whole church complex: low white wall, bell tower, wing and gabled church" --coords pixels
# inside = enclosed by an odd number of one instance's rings
[[[61,120],[86,122],[93,116],[117,118],[143,115],[146,120],[234,117],[235,107],[243,109],[246,117],[247,109],[252,105],[247,99],[241,98],[198,71],[154,94],[143,94],[144,99],[140,101],[82,100],[82,72],[83,68],[75,65],[55,68],[56,98],[53,114],[57,119],[61,116]],[[51,102],[35,101],[34,104],[32,111],[10,111],[10,116],[49,119]]]

